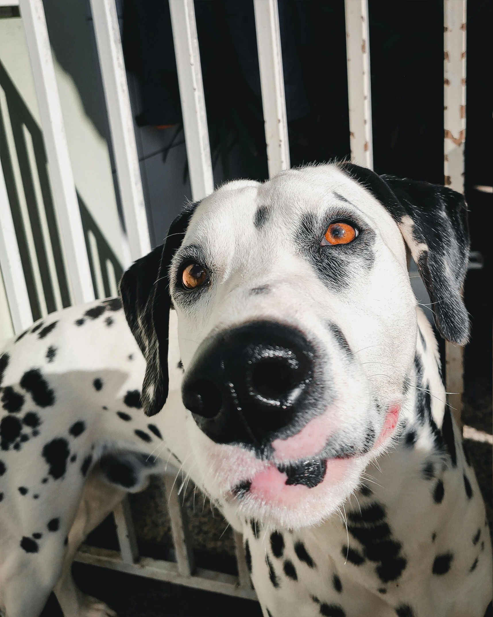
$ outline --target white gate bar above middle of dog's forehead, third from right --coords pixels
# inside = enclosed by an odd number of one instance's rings
[[[253,0],[269,178],[290,168],[277,0]]]

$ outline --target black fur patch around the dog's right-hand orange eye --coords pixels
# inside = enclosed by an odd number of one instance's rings
[[[332,219],[322,221],[314,213],[304,213],[296,231],[295,244],[298,254],[310,263],[328,289],[343,291],[353,281],[361,280],[361,276],[372,268],[375,232],[365,229],[349,244],[322,246],[320,242],[330,222]]]

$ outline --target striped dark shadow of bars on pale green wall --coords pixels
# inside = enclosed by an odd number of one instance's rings
[[[0,160],[33,319],[71,304],[43,132],[0,62]],[[79,208],[97,298],[116,294],[122,268],[81,197]]]

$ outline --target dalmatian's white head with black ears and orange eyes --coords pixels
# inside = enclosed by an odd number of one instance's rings
[[[465,342],[462,196],[351,164],[226,184],[124,274],[148,415],[166,400],[176,309],[189,438],[213,497],[299,527],[356,489],[409,403],[417,317],[406,246],[437,328]]]

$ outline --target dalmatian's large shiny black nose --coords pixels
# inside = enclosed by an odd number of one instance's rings
[[[202,342],[182,399],[215,442],[262,447],[309,405],[314,366],[314,349],[298,330],[254,321]]]

